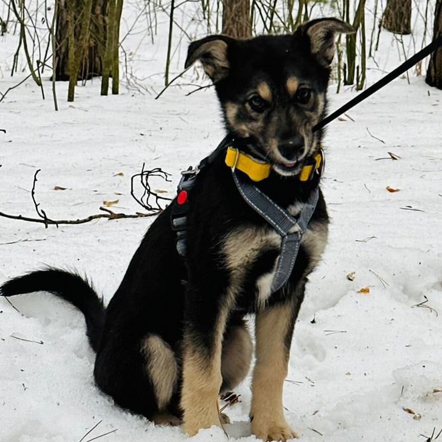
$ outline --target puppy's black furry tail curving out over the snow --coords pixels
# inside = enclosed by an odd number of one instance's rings
[[[81,311],[86,320],[89,343],[92,349],[97,351],[103,330],[105,308],[92,283],[77,273],[48,268],[12,278],[0,286],[0,296],[40,291],[50,292]]]

